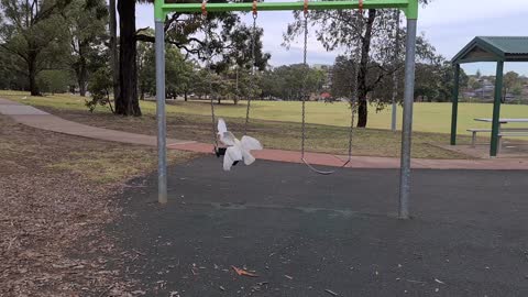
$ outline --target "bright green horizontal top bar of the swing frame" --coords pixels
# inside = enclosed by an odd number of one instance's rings
[[[305,3],[299,2],[258,2],[257,11],[302,10]],[[310,1],[308,10],[342,10],[359,9],[360,1]],[[418,0],[363,0],[363,9],[402,9],[408,19],[418,18]],[[164,14],[169,12],[196,13],[201,12],[201,3],[163,3]],[[252,11],[252,2],[208,3],[208,12]],[[160,11],[160,9],[157,10]],[[157,13],[156,13],[157,14]],[[162,15],[156,15],[161,19]],[[164,16],[164,15],[163,15]],[[164,18],[163,18],[164,19]]]

